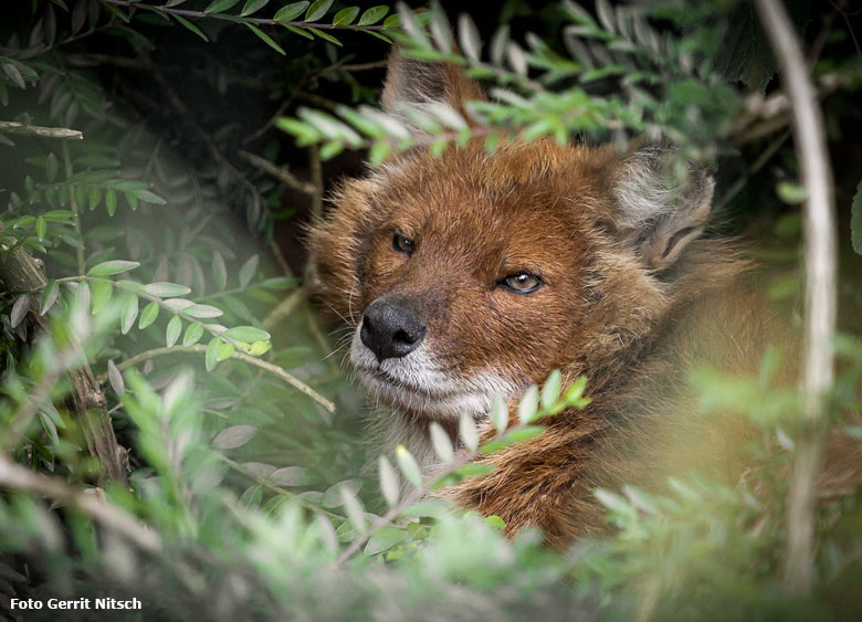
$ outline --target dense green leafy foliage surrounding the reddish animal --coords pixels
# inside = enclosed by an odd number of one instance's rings
[[[823,98],[847,257],[828,432],[853,452],[862,54],[850,3],[791,9]],[[509,0],[451,22],[438,6],[333,0],[17,0],[0,13],[3,614],[56,619],[11,599],[98,595],[137,597],[144,609],[126,614],[147,620],[862,612],[858,484],[822,492],[813,593],[780,588],[788,465],[811,433],[797,390],[772,382],[780,352],[765,352],[759,378],[693,378],[705,413],[763,430],[756,473],[733,488],[680,473],[666,495],[596,491],[609,533],[558,555],[427,493],[588,403],[589,379],[530,388],[513,428],[498,403],[490,445],[469,418],[458,454],[432,429],[445,466],[429,478],[402,447],[378,456],[362,442],[339,335],[303,286],[302,223],[366,155],[648,135],[718,167],[724,229],[764,241],[782,268],[770,295],[792,305],[805,190],[747,2]],[[469,119],[417,110],[417,139],[375,107],[392,41],[463,64],[491,99]]]

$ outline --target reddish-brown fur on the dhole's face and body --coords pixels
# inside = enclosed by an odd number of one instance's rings
[[[439,158],[417,149],[345,183],[308,236],[317,294],[351,323],[381,294],[404,293],[423,301],[429,347],[453,372],[491,366],[521,386],[555,368],[566,381],[587,375],[587,409],[484,457],[493,474],[444,493],[501,516],[509,534],[538,526],[557,546],[599,525],[596,485],[648,485],[680,462],[733,477],[724,450],[738,434],[692,415],[686,370],[750,371],[775,337],[734,242],[695,240],[661,274],[644,264],[619,232],[612,188],[626,170],[611,147],[550,140],[493,155],[479,140]],[[393,230],[417,241],[413,257],[392,251]],[[495,286],[523,268],[546,285]],[[422,413],[392,417],[428,425]]]

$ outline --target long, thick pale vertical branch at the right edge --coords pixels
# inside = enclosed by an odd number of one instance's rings
[[[811,591],[814,561],[814,503],[823,453],[824,398],[833,381],[837,261],[832,170],[822,113],[790,18],[778,0],[755,0],[755,4],[781,66],[807,196],[805,425],[795,452],[784,568],[785,590],[805,597]]]

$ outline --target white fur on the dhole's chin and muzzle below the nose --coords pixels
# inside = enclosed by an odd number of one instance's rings
[[[422,345],[401,358],[383,359],[369,350],[356,327],[350,362],[362,387],[376,401],[399,411],[432,419],[458,418],[462,412],[481,419],[491,410],[494,396],[508,399],[518,387],[501,376],[481,371],[471,378],[441,368]]]

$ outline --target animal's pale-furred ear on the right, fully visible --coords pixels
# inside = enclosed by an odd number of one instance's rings
[[[613,220],[624,244],[651,270],[673,264],[706,225],[715,182],[664,145],[640,147],[620,161]]]

